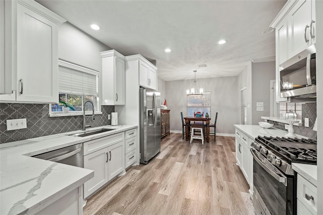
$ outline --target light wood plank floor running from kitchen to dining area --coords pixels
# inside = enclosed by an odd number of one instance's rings
[[[171,133],[147,165],[129,168],[88,199],[84,214],[254,214],[235,160],[235,138],[182,140]]]

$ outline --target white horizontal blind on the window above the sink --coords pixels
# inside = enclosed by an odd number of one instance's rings
[[[59,60],[59,92],[97,97],[98,75],[98,71]]]

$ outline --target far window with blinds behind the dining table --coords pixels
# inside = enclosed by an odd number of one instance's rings
[[[203,95],[186,96],[186,110],[188,117],[194,117],[194,112],[204,112],[211,117],[211,92],[204,92]]]

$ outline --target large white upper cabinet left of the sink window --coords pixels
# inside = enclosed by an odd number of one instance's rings
[[[11,19],[17,23],[17,32],[11,32],[16,38],[16,50],[11,50],[17,52],[16,58],[11,58],[17,63],[17,70],[11,71],[16,96],[1,100],[58,102],[58,25],[66,20],[34,1],[18,1],[12,7],[16,8],[16,15]]]

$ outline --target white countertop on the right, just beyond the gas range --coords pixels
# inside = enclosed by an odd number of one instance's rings
[[[259,125],[234,125],[236,128],[240,129],[244,133],[246,133],[250,138],[255,139],[258,135],[260,136],[279,136],[283,137],[285,136],[288,131],[281,130],[278,128],[262,128]],[[306,138],[306,136],[301,136],[296,134],[299,138]]]

